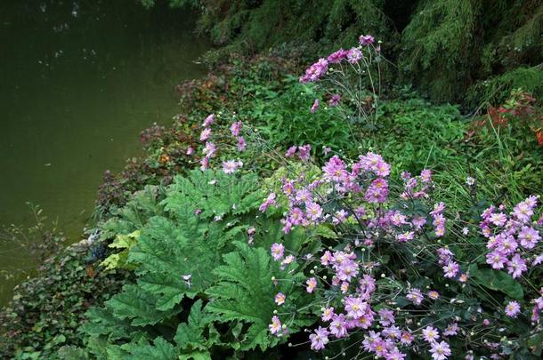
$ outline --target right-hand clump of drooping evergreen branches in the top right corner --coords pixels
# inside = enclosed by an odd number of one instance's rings
[[[400,74],[440,101],[465,100],[466,89],[476,84],[467,99],[470,108],[482,100],[504,100],[495,97],[496,84],[500,95],[518,86],[540,92],[533,78],[515,68],[543,60],[542,27],[543,6],[537,1],[420,1],[401,34]],[[487,85],[486,78],[507,71],[513,72]],[[540,78],[541,70],[531,69],[536,72]]]

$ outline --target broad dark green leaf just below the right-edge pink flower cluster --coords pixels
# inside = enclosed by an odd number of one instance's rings
[[[493,268],[479,268],[477,264],[472,264],[469,267],[469,276],[476,284],[487,287],[490,290],[503,292],[513,299],[523,299],[523,286],[517,283],[513,276],[503,271]]]

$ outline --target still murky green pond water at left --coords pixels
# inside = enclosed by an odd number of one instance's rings
[[[81,239],[103,172],[171,123],[175,84],[205,73],[193,28],[187,11],[136,0],[0,1],[0,227],[33,225],[31,202]],[[0,241],[2,305],[35,260]]]

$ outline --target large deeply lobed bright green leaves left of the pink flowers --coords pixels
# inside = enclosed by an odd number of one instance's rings
[[[285,285],[274,286],[271,276],[280,273],[269,250],[241,243],[237,251],[234,247],[234,240],[246,241],[247,225],[239,225],[240,220],[261,201],[254,174],[196,170],[174,179],[157,214],[144,217],[148,220],[127,217],[134,214],[134,203],[128,204],[120,211],[125,215],[121,221],[132,218],[142,225],[128,253],[128,262],[137,267],[137,281],[105,308],[88,312],[89,322],[83,326],[88,350],[99,357],[209,358],[214,347],[245,351],[277,344],[268,332],[273,296],[288,292],[296,301],[301,292],[292,289],[300,275],[290,274]],[[156,206],[152,201],[140,204],[148,210]],[[254,304],[259,304],[258,311]],[[306,323],[296,318],[291,326]],[[231,330],[218,332],[214,324]],[[223,337],[235,341],[223,342]]]

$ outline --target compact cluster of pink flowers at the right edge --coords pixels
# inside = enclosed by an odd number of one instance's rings
[[[539,230],[533,228],[531,217],[538,204],[537,196],[530,196],[523,202],[516,204],[513,212],[508,215],[503,212],[505,206],[490,206],[482,212],[482,221],[479,224],[482,235],[487,241],[489,249],[486,262],[497,270],[507,268],[507,272],[514,278],[520,277],[528,270],[528,265],[538,265],[541,260],[534,252],[541,251],[537,246],[541,240]],[[535,263],[535,264],[534,264]]]

